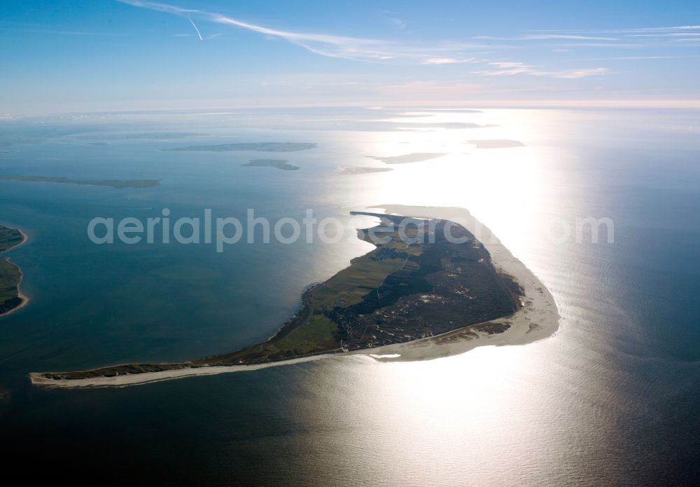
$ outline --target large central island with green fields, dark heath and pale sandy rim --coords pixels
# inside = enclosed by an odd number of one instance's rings
[[[556,330],[559,315],[547,289],[487,228],[466,219],[468,212],[384,208],[416,212],[353,212],[379,219],[379,225],[358,231],[376,248],[307,287],[300,310],[265,342],[186,362],[31,373],[31,382],[121,387],[358,353],[379,361],[428,359],[479,345],[528,343]]]

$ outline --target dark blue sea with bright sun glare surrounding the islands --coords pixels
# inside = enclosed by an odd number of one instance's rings
[[[469,128],[475,123],[481,128]],[[160,135],[153,135],[158,132]],[[189,132],[189,133],[183,133]],[[144,134],[151,134],[147,138]],[[134,136],[136,134],[136,136]],[[470,140],[524,146],[477,149]],[[288,153],[162,151],[308,142]],[[419,163],[370,158],[446,153]],[[31,301],[0,317],[9,474],[163,485],[661,486],[700,478],[700,114],[290,110],[0,121],[0,181]],[[251,159],[300,167],[241,167]],[[339,167],[391,172],[339,174]],[[540,277],[559,331],[426,362],[353,356],[122,389],[31,371],[163,362],[274,334],[302,289],[371,247],[349,211],[465,207]],[[337,217],[337,244],[95,245],[94,217]],[[609,218],[614,242],[565,238]],[[77,478],[77,477],[76,477]]]

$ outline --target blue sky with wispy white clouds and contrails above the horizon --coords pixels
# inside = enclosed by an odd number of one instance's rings
[[[700,100],[700,1],[0,2],[0,117]]]

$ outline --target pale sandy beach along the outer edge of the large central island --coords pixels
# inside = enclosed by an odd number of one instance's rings
[[[448,331],[447,333],[420,338],[405,343],[393,343],[376,348],[365,348],[351,352],[319,353],[307,357],[266,362],[264,364],[197,366],[156,372],[144,372],[113,377],[94,377],[82,379],[52,379],[43,373],[30,373],[33,385],[43,387],[127,387],[142,385],[162,380],[194,376],[211,376],[218,373],[233,373],[265,369],[267,367],[312,362],[332,357],[350,355],[367,355],[377,362],[414,362],[431,360],[472,350],[479,346],[524,345],[552,336],[559,329],[559,313],[552,294],[542,282],[531,273],[521,261],[516,259],[493,233],[477,221],[468,210],[456,207],[416,207],[403,205],[376,205],[370,208],[384,210],[387,214],[410,215],[416,218],[435,218],[454,221],[470,231],[491,255],[493,266],[510,275],[524,291],[522,306],[512,315],[488,322],[471,324],[467,327]],[[489,333],[489,325],[507,324],[508,328],[500,333]],[[278,330],[277,333],[279,333]]]

